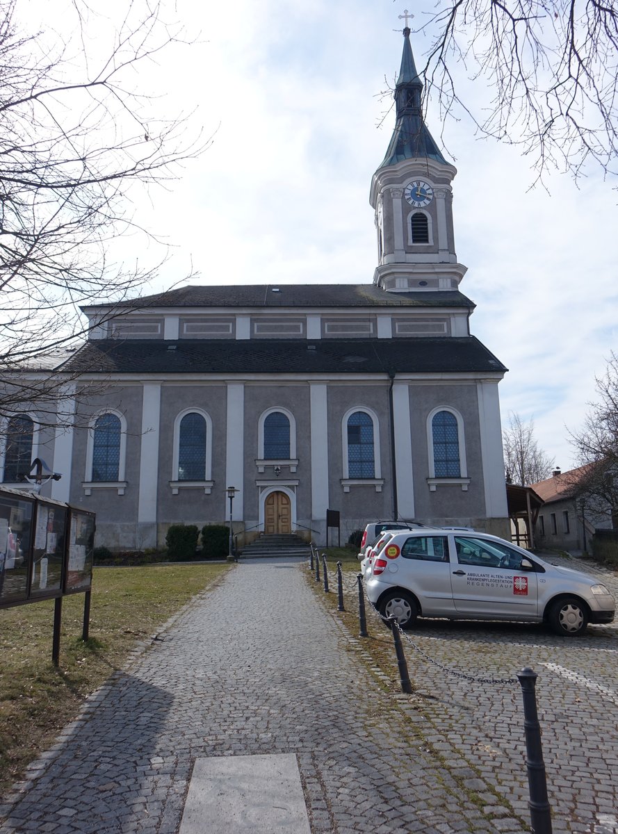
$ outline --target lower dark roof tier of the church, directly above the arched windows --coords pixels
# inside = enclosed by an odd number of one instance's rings
[[[93,339],[61,370],[94,374],[504,372],[474,336],[406,339]]]

